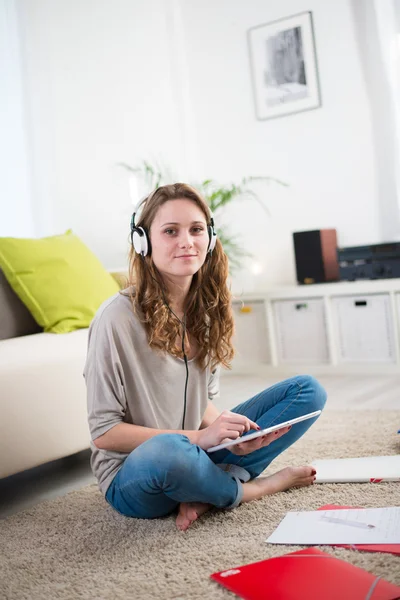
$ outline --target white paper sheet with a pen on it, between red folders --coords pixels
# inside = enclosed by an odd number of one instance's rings
[[[266,542],[400,544],[400,507],[289,512]]]

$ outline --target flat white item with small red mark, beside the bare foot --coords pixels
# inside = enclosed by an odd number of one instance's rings
[[[400,481],[400,455],[313,460],[315,483]]]

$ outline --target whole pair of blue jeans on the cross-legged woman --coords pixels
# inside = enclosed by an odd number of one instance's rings
[[[322,410],[324,388],[309,375],[286,379],[232,409],[261,429]],[[208,454],[178,433],[156,435],[125,459],[106,493],[115,510],[128,517],[152,519],[171,513],[181,502],[204,502],[234,508],[243,496],[242,482],[254,479],[298,440],[317,417],[296,423],[269,446],[245,456],[227,449]]]

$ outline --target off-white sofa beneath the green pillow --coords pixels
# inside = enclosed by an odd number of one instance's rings
[[[114,275],[122,283],[121,274]],[[3,276],[0,325],[8,321],[0,333],[12,335],[7,324],[13,318],[27,322],[31,317],[24,311]],[[17,335],[0,339],[0,478],[74,454],[90,442],[83,378],[88,329],[31,335],[19,329]]]

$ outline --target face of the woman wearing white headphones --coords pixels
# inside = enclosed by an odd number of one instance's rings
[[[209,238],[203,211],[192,200],[168,200],[156,213],[150,240],[151,256],[160,273],[191,279],[207,254]]]

